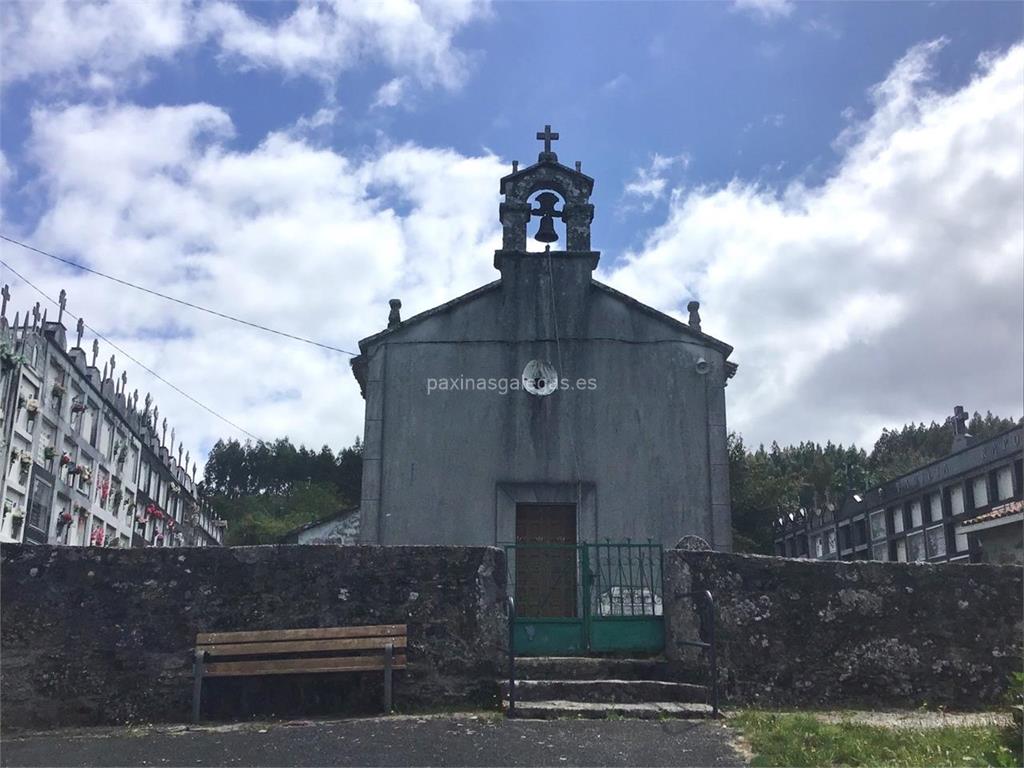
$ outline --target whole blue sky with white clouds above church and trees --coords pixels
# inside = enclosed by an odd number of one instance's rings
[[[0,4],[0,228],[354,350],[497,276],[498,178],[560,131],[599,279],[736,348],[749,443],[1022,412],[1018,3]],[[348,356],[0,244],[252,434],[348,444]],[[6,268],[11,313],[39,300]],[[91,340],[87,337],[87,343]],[[113,351],[105,346],[105,358]],[[245,437],[128,360],[194,453]]]

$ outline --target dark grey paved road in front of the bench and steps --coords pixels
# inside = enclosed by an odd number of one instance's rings
[[[489,716],[15,734],[3,766],[741,766],[717,722]]]

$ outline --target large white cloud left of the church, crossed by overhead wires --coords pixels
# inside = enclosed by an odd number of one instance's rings
[[[293,132],[238,152],[231,135],[229,117],[209,104],[37,110],[31,156],[50,203],[22,234],[141,285],[351,350],[385,327],[389,298],[401,298],[408,316],[497,276],[495,180],[506,172],[497,158],[407,144],[356,160]],[[69,309],[256,434],[317,446],[361,434],[347,355],[58,270],[7,244],[0,253],[31,268],[50,295],[66,288]],[[14,287],[14,311],[38,299],[12,275],[4,280]],[[119,369],[129,372],[129,391],[152,389],[194,454],[232,434],[126,362]]]

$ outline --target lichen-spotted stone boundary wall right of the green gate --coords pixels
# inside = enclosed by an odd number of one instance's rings
[[[719,680],[755,706],[999,705],[1021,670],[1019,567],[665,553],[666,653],[707,640],[684,593],[717,602]]]

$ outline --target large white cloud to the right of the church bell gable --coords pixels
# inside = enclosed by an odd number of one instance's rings
[[[942,41],[872,89],[817,186],[677,191],[607,278],[736,347],[730,425],[751,440],[873,439],[954,403],[1020,416],[1024,47],[931,84]]]

